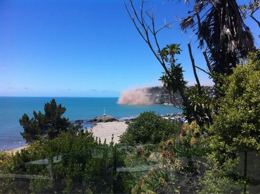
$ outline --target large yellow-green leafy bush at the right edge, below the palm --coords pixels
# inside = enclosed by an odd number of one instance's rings
[[[210,128],[211,144],[220,160],[260,148],[260,52],[248,57],[226,77],[225,96],[219,100],[218,114]]]

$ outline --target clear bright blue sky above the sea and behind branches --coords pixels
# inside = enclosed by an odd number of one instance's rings
[[[157,27],[164,18],[182,18],[188,10],[164,0],[150,1],[149,7],[156,7]],[[259,34],[256,23],[246,23]],[[0,96],[117,97],[125,89],[160,85],[163,68],[121,0],[0,1],[0,28]],[[182,33],[176,23],[159,34],[161,47],[181,44],[178,58],[185,79],[193,84],[190,40],[196,64],[206,68],[194,33]],[[198,73],[204,85],[212,84]]]

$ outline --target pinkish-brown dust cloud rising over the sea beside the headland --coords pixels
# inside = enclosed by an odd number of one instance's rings
[[[150,105],[154,102],[146,97],[147,89],[132,89],[122,91],[117,101],[118,104],[129,104],[129,105]]]

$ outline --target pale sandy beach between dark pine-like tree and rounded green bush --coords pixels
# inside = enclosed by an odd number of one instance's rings
[[[114,134],[114,142],[119,142],[119,136],[125,132],[127,124],[125,122],[106,122],[97,123],[93,128],[92,132],[95,137],[101,139],[103,143],[107,139],[107,143],[111,142],[112,134]]]

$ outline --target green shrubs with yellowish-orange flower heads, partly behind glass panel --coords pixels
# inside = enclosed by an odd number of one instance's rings
[[[164,142],[153,144],[118,144],[117,182],[123,193],[187,193],[196,190],[204,153],[199,137],[203,132],[196,122],[186,124],[181,132]],[[188,177],[188,178],[187,178]]]

